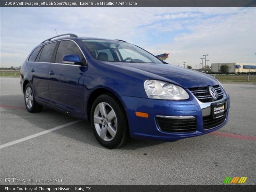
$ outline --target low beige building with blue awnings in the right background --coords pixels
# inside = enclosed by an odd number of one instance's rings
[[[229,72],[256,72],[256,63],[212,63],[212,72],[219,72],[220,66],[227,64]]]

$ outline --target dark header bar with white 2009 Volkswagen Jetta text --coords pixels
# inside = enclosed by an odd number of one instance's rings
[[[1,7],[256,7],[256,0],[1,0]]]

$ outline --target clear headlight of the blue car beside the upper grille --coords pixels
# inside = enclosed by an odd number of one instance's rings
[[[150,99],[185,100],[189,98],[182,87],[164,81],[148,79],[144,82],[144,89]]]

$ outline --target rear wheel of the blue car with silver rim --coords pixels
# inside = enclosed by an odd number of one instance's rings
[[[36,103],[32,86],[29,83],[26,85],[24,89],[24,101],[25,101],[26,109],[28,110],[29,113],[40,112],[43,109],[42,105],[39,105],[38,103]]]

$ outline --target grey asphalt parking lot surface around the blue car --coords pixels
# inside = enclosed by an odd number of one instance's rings
[[[19,81],[0,78],[0,146],[77,120],[49,108],[28,113]],[[255,185],[256,85],[223,85],[231,108],[217,134],[176,142],[131,140],[110,150],[80,121],[1,148],[0,185],[222,185],[225,177],[236,176]],[[6,183],[8,177],[62,183]]]

